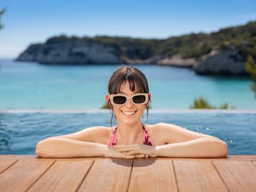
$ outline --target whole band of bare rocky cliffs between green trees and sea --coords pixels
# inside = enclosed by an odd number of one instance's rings
[[[35,61],[43,64],[156,64],[182,68],[193,68],[200,75],[246,75],[245,59],[237,49],[213,50],[201,60],[182,58],[176,54],[171,58],[154,56],[147,59],[120,57],[114,46],[101,43],[61,42],[33,44],[18,56],[20,61]]]

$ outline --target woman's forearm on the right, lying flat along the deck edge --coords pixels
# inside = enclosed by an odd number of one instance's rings
[[[228,154],[227,144],[211,137],[156,146],[155,150],[156,156],[166,157],[223,157]]]

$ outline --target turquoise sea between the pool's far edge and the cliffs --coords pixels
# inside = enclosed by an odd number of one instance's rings
[[[95,110],[105,103],[107,82],[120,65],[39,65],[0,60],[0,110]],[[256,109],[249,78],[198,76],[193,70],[137,65],[149,80],[152,109],[188,109],[197,97],[219,107]]]

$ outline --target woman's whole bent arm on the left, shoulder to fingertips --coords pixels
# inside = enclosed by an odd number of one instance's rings
[[[110,129],[92,127],[73,134],[49,137],[36,145],[36,154],[41,157],[68,158],[105,156],[114,158],[133,159],[144,155],[127,155],[107,146]]]

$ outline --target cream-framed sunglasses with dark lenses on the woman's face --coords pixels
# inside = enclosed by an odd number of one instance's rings
[[[131,97],[124,94],[110,95],[110,102],[112,105],[125,105],[129,99],[132,100],[134,105],[144,105],[149,102],[149,93],[137,93]]]

